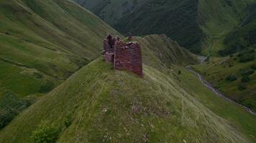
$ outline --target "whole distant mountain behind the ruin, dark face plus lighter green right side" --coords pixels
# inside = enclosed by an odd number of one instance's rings
[[[167,34],[194,53],[217,54],[224,37],[247,16],[241,0],[74,0],[122,34]]]

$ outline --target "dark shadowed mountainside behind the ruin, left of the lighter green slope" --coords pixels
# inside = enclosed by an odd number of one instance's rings
[[[77,2],[91,9],[122,34],[167,34],[171,39],[178,41],[181,46],[189,49],[195,46],[191,50],[200,51],[197,49],[200,47],[202,34],[196,21],[198,1],[130,0],[117,2],[112,0],[102,3],[102,0],[101,2],[78,0]]]

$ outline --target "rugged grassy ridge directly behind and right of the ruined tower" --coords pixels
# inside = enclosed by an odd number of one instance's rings
[[[160,69],[163,65],[187,65],[196,64],[198,61],[196,55],[188,50],[180,47],[176,42],[168,38],[165,34],[162,35],[148,35],[143,38],[140,36],[134,37],[134,41],[140,43],[142,48],[144,64],[150,63],[150,66]],[[150,49],[150,50],[148,50]],[[152,59],[155,57],[156,59]],[[160,61],[158,61],[160,59]],[[155,63],[155,64],[153,64]],[[159,65],[159,63],[162,63]]]

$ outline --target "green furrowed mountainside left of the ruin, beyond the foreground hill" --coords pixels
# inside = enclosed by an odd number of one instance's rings
[[[117,32],[71,1],[0,3],[1,129],[29,105],[26,97],[50,92],[99,56],[107,31]]]

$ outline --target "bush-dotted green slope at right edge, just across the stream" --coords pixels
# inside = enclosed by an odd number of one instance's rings
[[[256,53],[252,49],[249,51],[232,57],[212,58],[209,64],[193,67],[227,97],[256,111],[256,61],[250,58]]]

